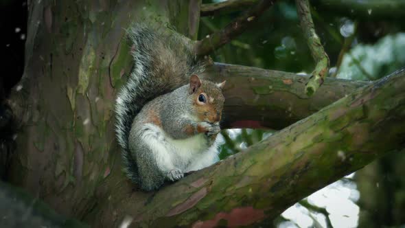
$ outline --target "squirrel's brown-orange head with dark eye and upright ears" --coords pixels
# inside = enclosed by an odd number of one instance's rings
[[[220,122],[224,106],[222,89],[225,82],[216,84],[207,80],[200,80],[195,74],[190,77],[188,92],[192,98],[195,114],[200,121]]]

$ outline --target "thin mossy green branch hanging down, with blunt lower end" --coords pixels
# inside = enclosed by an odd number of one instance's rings
[[[305,93],[312,95],[323,84],[325,75],[327,74],[327,67],[329,65],[329,58],[323,49],[319,36],[316,35],[314,21],[310,12],[310,3],[308,0],[295,0],[297,5],[297,14],[301,22],[301,28],[304,36],[307,39],[308,47],[316,62],[316,67],[312,72],[312,77],[305,86]]]

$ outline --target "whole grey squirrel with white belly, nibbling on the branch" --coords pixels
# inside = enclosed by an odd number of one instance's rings
[[[152,191],[218,161],[225,82],[202,79],[204,64],[180,35],[138,24],[128,37],[135,63],[117,95],[115,131],[124,172]]]

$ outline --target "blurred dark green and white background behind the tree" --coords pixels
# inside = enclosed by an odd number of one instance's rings
[[[211,3],[215,1],[203,1]],[[312,0],[312,17],[330,59],[329,77],[376,80],[405,66],[404,0]],[[23,74],[27,2],[0,0],[0,100]],[[240,12],[202,17],[200,38]],[[278,1],[250,30],[216,50],[214,61],[311,73],[314,61],[294,1]],[[1,114],[1,113],[0,113]],[[221,159],[261,141],[274,130],[223,130]],[[7,137],[0,133],[0,140]],[[342,155],[344,156],[344,155]],[[405,156],[391,154],[303,198],[275,227],[405,227]]]

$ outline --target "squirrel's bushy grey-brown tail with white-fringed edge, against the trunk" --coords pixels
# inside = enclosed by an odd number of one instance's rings
[[[128,30],[135,62],[128,81],[117,95],[115,131],[122,147],[124,172],[135,183],[137,166],[128,148],[134,117],[146,102],[181,87],[193,73],[204,70],[186,38],[174,32],[165,33],[141,24]]]

